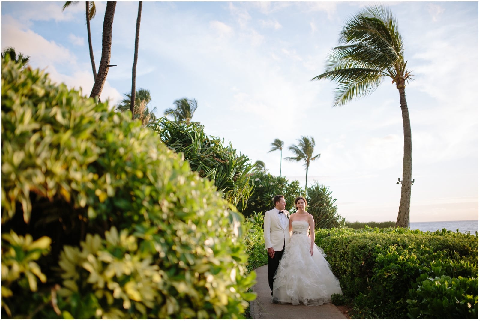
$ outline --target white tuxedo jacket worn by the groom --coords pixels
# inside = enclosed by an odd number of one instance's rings
[[[285,215],[285,223],[282,226],[280,223],[280,217],[278,216],[278,210],[274,208],[268,212],[265,212],[264,217],[264,238],[265,249],[273,248],[275,251],[283,250],[283,240],[285,239],[285,246],[290,241],[289,220],[288,211],[283,210]]]

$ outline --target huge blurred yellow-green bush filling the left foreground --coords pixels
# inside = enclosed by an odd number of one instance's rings
[[[1,121],[2,317],[242,316],[244,219],[156,132],[9,61]]]

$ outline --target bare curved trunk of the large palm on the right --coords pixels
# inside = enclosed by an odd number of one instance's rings
[[[403,119],[403,174],[402,194],[395,226],[407,227],[410,220],[410,196],[412,193],[412,130],[405,98],[405,86],[400,86],[398,91],[400,92],[400,108]]]

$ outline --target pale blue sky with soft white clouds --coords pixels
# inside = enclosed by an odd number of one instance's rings
[[[85,7],[2,2],[1,46],[30,56],[56,83],[94,84]],[[106,2],[91,21],[96,68]],[[252,162],[280,174],[276,139],[288,147],[314,138],[309,185],[329,187],[347,221],[396,221],[403,160],[398,90],[388,79],[371,95],[333,107],[324,72],[348,17],[374,2],[143,2],[137,88],[150,90],[161,116],[183,97],[193,120],[230,141]],[[396,16],[408,69],[413,166],[410,222],[477,220],[479,192],[479,3],[382,2]],[[118,2],[102,101],[130,93],[138,2]],[[305,184],[302,163],[282,175]]]

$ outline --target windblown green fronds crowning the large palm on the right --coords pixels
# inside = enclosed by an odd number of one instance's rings
[[[384,6],[369,6],[349,18],[332,49],[324,73],[312,80],[337,83],[334,106],[370,95],[385,77],[393,83],[408,82],[413,75],[406,69],[403,40],[396,19]]]

